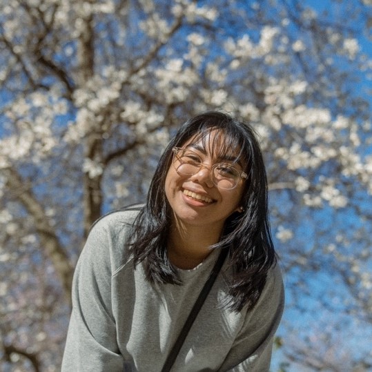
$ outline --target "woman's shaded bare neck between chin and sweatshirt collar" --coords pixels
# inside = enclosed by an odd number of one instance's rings
[[[175,221],[168,238],[168,257],[178,268],[190,269],[200,264],[212,252],[211,246],[219,241],[221,229],[184,226]]]

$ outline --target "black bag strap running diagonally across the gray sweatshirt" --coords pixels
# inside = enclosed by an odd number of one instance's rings
[[[188,315],[184,327],[179,333],[178,338],[175,344],[173,345],[173,348],[170,350],[168,358],[166,358],[166,362],[164,363],[161,372],[168,372],[172,368],[173,363],[175,362],[175,359],[177,358],[177,355],[179,353],[179,350],[181,349],[182,344],[184,344],[184,340],[188,335],[188,331],[190,331],[190,328],[193,325],[193,322],[195,321],[197,314],[199,313],[200,309],[202,309],[204,301],[206,300],[206,296],[208,296],[208,293],[211,291],[213,283],[215,282],[217,275],[221,270],[222,265],[224,264],[227,253],[228,253],[227,249],[222,249],[221,253],[219,253],[215,266],[213,266],[213,269],[208,277],[208,280],[206,281],[206,284],[204,284],[202,291],[200,291],[199,297],[197,297],[197,300],[193,306],[193,309],[191,309],[190,314]]]

